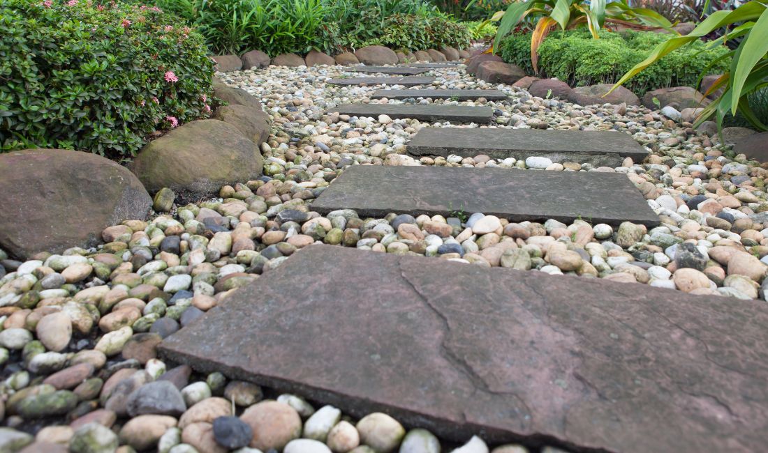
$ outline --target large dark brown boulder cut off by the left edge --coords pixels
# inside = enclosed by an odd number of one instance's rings
[[[64,149],[0,154],[0,248],[18,258],[101,242],[101,231],[145,218],[152,199],[124,166]]]

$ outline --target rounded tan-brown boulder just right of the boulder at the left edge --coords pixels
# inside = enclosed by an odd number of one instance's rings
[[[222,185],[256,179],[262,168],[259,146],[237,127],[197,120],[144,146],[133,171],[147,190],[167,187],[190,201],[217,193]]]

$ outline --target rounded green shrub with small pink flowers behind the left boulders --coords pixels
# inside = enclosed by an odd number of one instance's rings
[[[3,0],[0,144],[124,159],[147,137],[207,117],[214,64],[157,8]]]

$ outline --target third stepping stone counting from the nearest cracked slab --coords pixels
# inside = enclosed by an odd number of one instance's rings
[[[643,162],[648,152],[632,136],[621,132],[533,129],[465,129],[429,127],[408,143],[413,156],[525,159],[545,156],[552,162],[589,162],[594,166],[621,166],[625,157]]]

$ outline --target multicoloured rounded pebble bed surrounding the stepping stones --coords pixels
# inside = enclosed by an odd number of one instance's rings
[[[114,451],[118,445],[123,445],[119,451],[157,447],[172,453],[266,453],[283,447],[286,453],[364,453],[393,451],[398,445],[401,452],[440,451],[439,440],[429,432],[414,429],[406,435],[388,415],[352,420],[323,402],[276,395],[220,373],[200,376],[187,366],[171,368],[157,359],[162,338],[316,241],[485,267],[639,282],[691,294],[765,297],[768,203],[766,169],[759,162],[734,156],[715,137],[657,111],[535,98],[524,90],[475,80],[462,67],[426,75],[437,77],[432,88],[494,88],[509,94],[509,100],[370,100],[381,86],[325,83],[356,76],[343,67],[220,74],[228,84],[260,97],[273,117],[273,134],[262,146],[266,176],[224,186],[219,199],[176,206],[149,222],[107,228],[98,249],[38,254],[23,263],[0,251],[5,379],[0,419],[7,427],[0,428],[0,445],[18,451],[34,441],[31,448],[38,449],[29,451],[69,448],[75,453]],[[414,159],[405,155],[406,142],[419,129],[453,126],[324,113],[356,102],[488,106],[496,127],[626,131],[651,154],[645,162],[627,158],[617,168],[553,163],[544,157]],[[359,218],[350,210],[325,216],[312,211],[312,200],[339,172],[363,164],[621,172],[662,223],[648,230],[629,222],[618,227],[585,220],[510,223],[460,211],[449,218]],[[307,440],[292,441],[300,435]],[[452,447],[442,445],[443,451]],[[488,447],[472,438],[455,451],[487,453]]]

